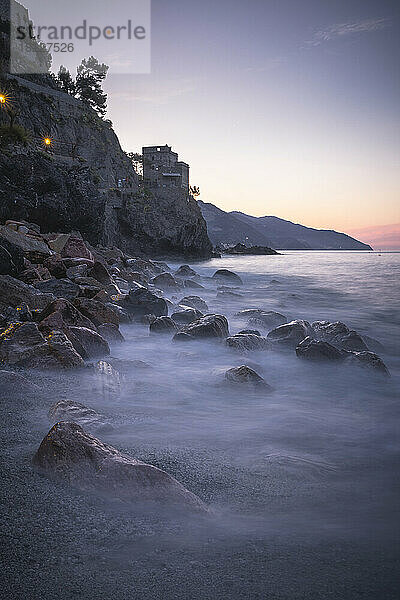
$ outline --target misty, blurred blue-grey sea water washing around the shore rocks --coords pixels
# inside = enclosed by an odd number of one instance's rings
[[[173,302],[200,295],[228,317],[231,333],[246,326],[234,316],[244,308],[341,320],[383,344],[392,377],[308,364],[294,351],[243,356],[223,343],[177,344],[125,326],[113,356],[147,369],[132,365],[117,382],[49,377],[23,416],[6,410],[15,421],[6,481],[29,507],[25,516],[9,509],[25,540],[13,551],[25,573],[14,591],[36,581],[42,595],[25,597],[50,598],[58,573],[62,598],[395,598],[400,254],[287,252],[192,266],[205,289],[169,294]],[[240,296],[217,298],[209,279],[217,268],[242,277]],[[273,392],[227,385],[226,370],[241,364]],[[35,474],[30,456],[61,397],[106,415],[113,429],[103,441],[167,470],[216,516],[165,525]],[[50,560],[38,575],[26,555],[35,546],[37,565],[49,545],[66,571]]]

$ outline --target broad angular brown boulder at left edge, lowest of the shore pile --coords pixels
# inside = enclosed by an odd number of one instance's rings
[[[9,328],[0,342],[0,360],[26,368],[57,369],[83,366],[83,360],[61,331],[44,337],[36,323]]]

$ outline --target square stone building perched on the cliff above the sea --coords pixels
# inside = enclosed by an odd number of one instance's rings
[[[179,188],[189,193],[189,165],[178,160],[171,146],[147,146],[143,152],[143,180],[150,187]]]

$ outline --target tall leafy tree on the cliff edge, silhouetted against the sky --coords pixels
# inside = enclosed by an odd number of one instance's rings
[[[101,89],[107,71],[107,65],[90,56],[82,60],[75,79],[78,98],[89,104],[101,117],[104,117],[107,110],[107,94]]]

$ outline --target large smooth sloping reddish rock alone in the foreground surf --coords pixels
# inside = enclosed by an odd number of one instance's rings
[[[83,491],[99,491],[146,505],[161,502],[207,512],[201,500],[173,477],[102,443],[76,423],[54,425],[40,444],[33,464]]]

